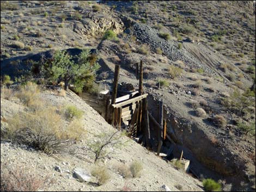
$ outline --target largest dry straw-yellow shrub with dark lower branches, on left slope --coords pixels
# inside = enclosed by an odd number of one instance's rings
[[[19,113],[8,120],[3,137],[44,151],[55,153],[74,143],[71,134],[64,129],[65,123],[53,107],[33,113]],[[70,137],[71,136],[71,137]]]

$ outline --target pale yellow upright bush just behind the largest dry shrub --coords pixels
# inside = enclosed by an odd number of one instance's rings
[[[38,85],[33,82],[27,82],[27,84],[22,85],[19,91],[17,92],[17,97],[25,103],[27,106],[33,103],[34,100],[38,97],[40,89]]]

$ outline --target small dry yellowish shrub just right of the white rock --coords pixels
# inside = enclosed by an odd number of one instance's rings
[[[97,178],[97,183],[103,185],[111,178],[105,166],[95,166],[92,175]]]

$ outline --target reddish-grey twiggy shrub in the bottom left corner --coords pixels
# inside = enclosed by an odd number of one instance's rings
[[[2,3],[1,3],[2,4]],[[1,162],[1,191],[38,191],[50,187],[53,179],[34,173],[29,167]]]

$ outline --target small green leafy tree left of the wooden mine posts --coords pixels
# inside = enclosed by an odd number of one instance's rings
[[[90,62],[89,57],[89,49],[84,49],[76,57],[72,57],[66,51],[58,50],[54,53],[50,66],[46,65],[50,69],[45,69],[45,71],[50,72],[51,78],[54,80],[64,80],[64,89],[68,90],[71,80],[83,77],[84,73],[88,73],[88,71],[94,74],[100,68],[96,61],[94,63]]]

